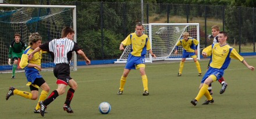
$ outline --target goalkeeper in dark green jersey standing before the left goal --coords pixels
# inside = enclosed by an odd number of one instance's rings
[[[13,60],[12,65],[12,79],[15,79],[15,71],[17,69],[17,64],[19,58],[22,58],[23,51],[26,49],[27,45],[20,40],[20,34],[15,34],[15,40],[10,43],[9,53],[8,53],[8,65],[10,61]],[[12,59],[11,59],[12,58]]]

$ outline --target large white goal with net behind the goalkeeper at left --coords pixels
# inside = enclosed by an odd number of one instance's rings
[[[15,33],[29,45],[33,32],[42,36],[42,43],[61,38],[64,27],[72,27],[76,32],[76,6],[0,4],[0,26],[0,73],[3,73],[12,70],[8,65],[8,51]],[[77,34],[74,34],[74,42],[77,42]],[[41,66],[42,70],[52,70],[55,65],[51,55],[42,54]],[[76,53],[73,53],[70,69],[77,70]]]

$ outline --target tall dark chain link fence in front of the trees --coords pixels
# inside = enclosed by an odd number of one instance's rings
[[[22,4],[76,5],[77,43],[92,60],[119,58],[120,42],[134,32],[134,25],[142,18],[140,3],[23,0]],[[144,3],[143,7],[145,24],[200,23],[200,47],[212,43],[211,27],[218,25],[228,32],[230,46],[240,53],[255,53],[255,8],[157,3]]]

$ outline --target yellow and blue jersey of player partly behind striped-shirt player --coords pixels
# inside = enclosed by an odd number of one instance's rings
[[[31,64],[37,64],[39,66],[41,66],[41,59],[42,59],[42,50],[38,51],[37,53],[34,54],[34,57],[32,59],[28,59],[28,56],[30,53],[32,53],[32,51],[34,51],[34,49],[31,49],[31,47],[27,47],[27,49],[24,51],[24,53],[22,54],[22,59],[20,59],[20,68],[24,69],[26,68],[27,65],[29,65],[29,63]],[[37,69],[37,68],[35,68]],[[39,70],[39,69],[37,69]]]

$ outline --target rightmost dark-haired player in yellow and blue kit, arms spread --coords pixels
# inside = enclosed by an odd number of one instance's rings
[[[197,102],[200,101],[203,95],[206,96],[207,100],[204,103],[214,103],[214,98],[209,94],[207,90],[208,85],[216,80],[221,79],[224,74],[224,70],[229,66],[231,58],[241,61],[248,69],[254,70],[253,66],[247,64],[241,55],[237,53],[233,47],[230,47],[227,40],[227,32],[221,31],[218,35],[219,43],[212,44],[211,46],[206,47],[202,50],[202,55],[208,57],[211,55],[211,62],[209,69],[202,77],[200,84],[200,91],[198,92],[195,99],[191,101],[192,105],[197,105]],[[203,104],[204,104],[203,103]]]

